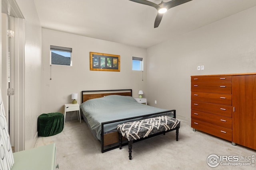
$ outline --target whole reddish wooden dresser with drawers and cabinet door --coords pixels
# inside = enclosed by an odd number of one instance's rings
[[[191,76],[191,127],[256,149],[256,73]]]

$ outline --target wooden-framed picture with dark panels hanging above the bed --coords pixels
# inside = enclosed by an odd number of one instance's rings
[[[90,70],[120,71],[120,55],[90,52]]]

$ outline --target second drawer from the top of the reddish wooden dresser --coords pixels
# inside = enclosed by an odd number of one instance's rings
[[[231,94],[232,86],[231,82],[192,82],[191,91],[192,92],[210,92],[210,93],[225,93]]]

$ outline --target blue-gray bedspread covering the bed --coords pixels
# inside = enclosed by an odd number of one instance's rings
[[[101,140],[102,122],[167,111],[166,109],[140,104],[131,96],[119,95],[87,100],[80,105],[80,108],[87,119],[90,129],[99,140]],[[116,130],[118,124],[125,122],[128,121],[105,125],[104,133]]]

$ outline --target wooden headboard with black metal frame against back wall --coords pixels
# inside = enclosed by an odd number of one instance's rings
[[[132,89],[124,90],[90,90],[82,91],[82,103],[94,98],[102,98],[108,95],[132,96]]]

